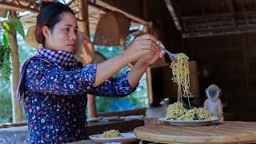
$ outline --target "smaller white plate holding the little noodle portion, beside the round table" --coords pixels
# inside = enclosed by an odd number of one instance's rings
[[[135,142],[138,139],[133,133],[121,133],[123,138],[101,138],[102,134],[90,135],[89,138],[94,142]]]

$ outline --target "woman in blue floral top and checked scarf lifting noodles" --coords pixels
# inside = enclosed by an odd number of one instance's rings
[[[37,16],[35,38],[43,48],[22,67],[18,100],[22,100],[30,143],[63,143],[86,138],[86,94],[123,97],[134,91],[146,68],[162,57],[150,34],[134,40],[122,54],[82,66],[74,56],[78,24],[60,2],[45,2]],[[162,44],[161,44],[162,45]],[[111,78],[129,62],[134,67]]]

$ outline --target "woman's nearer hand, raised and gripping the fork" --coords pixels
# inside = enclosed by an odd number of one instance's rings
[[[134,39],[129,48],[124,51],[126,57],[129,58],[130,62],[135,62],[144,54],[149,54],[158,51],[158,46],[156,45],[158,40],[150,34],[143,34]]]

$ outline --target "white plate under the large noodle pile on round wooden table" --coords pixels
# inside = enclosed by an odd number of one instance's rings
[[[171,125],[178,125],[178,126],[200,126],[200,125],[207,125],[212,122],[218,122],[218,118],[214,118],[211,120],[193,120],[193,121],[166,120],[166,118],[159,118],[159,121],[168,122]]]

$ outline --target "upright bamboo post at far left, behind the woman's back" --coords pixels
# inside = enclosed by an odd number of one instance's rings
[[[12,98],[12,110],[13,110],[13,122],[22,122],[22,105],[18,103],[16,98],[16,92],[19,80],[19,61],[18,61],[18,44],[16,38],[16,31],[8,32],[11,57],[11,98]]]

